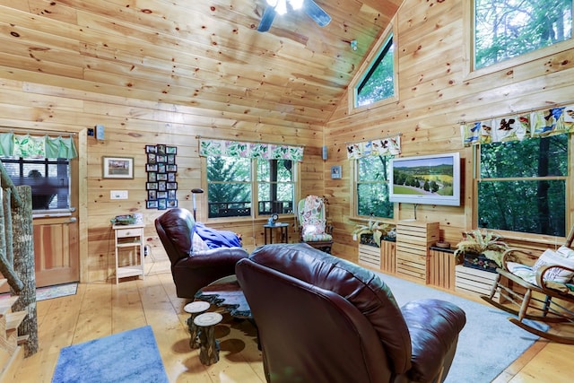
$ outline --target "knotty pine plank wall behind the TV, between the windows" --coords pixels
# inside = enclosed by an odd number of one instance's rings
[[[439,222],[441,238],[454,245],[462,231],[473,227],[472,150],[463,148],[458,122],[572,100],[573,49],[491,74],[467,75],[465,7],[469,4],[465,0],[405,0],[396,15],[398,102],[349,115],[345,96],[326,125],[327,168],[343,165],[343,178],[326,178],[325,185],[335,225],[335,253],[352,255],[357,251],[351,237],[353,223],[348,219],[352,174],[345,143],[401,133],[404,156],[460,152],[464,204],[417,208],[417,219]],[[396,219],[410,218],[413,205],[400,205]],[[521,239],[511,242],[526,246]],[[545,248],[548,243],[528,246]]]

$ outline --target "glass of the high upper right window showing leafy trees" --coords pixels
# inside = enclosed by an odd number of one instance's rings
[[[474,69],[572,38],[572,0],[474,0]]]

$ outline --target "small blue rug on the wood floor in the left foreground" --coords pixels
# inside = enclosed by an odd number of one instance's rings
[[[74,344],[60,351],[53,383],[168,383],[151,326]]]

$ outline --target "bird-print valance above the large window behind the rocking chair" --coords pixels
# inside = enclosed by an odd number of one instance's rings
[[[574,132],[574,105],[491,118],[460,126],[463,144],[491,144]]]

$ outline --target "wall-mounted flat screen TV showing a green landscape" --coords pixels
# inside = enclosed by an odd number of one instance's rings
[[[391,202],[460,205],[460,158],[457,152],[391,160]]]

